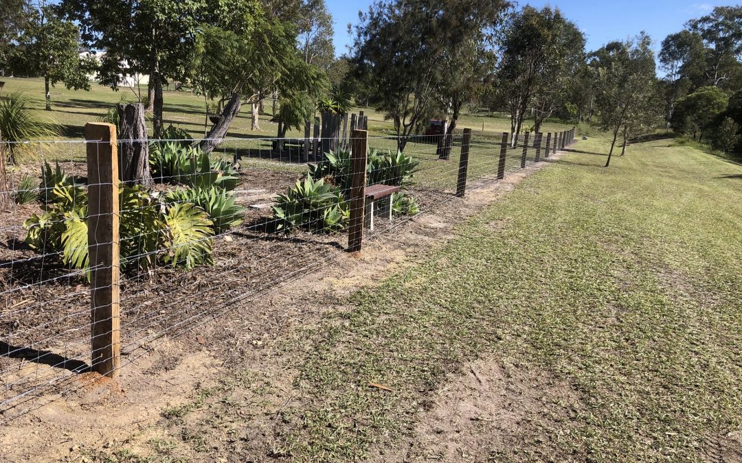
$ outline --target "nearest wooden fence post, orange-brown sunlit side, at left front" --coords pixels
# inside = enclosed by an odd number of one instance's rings
[[[88,141],[88,255],[91,268],[91,366],[119,376],[119,159],[116,126],[85,124]]]

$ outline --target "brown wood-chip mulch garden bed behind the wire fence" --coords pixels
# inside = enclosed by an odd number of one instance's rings
[[[245,169],[238,202],[269,204],[270,196],[285,192],[297,178],[295,171]],[[453,192],[419,186],[409,192],[422,210],[453,197]],[[23,221],[40,211],[31,204],[0,216],[0,413],[13,405],[2,402],[39,393],[42,386],[86,370],[90,362],[88,284],[53,256],[41,256],[23,242]],[[163,266],[145,275],[122,276],[122,363],[162,336],[176,336],[344,253],[345,233],[265,233],[260,224],[271,213],[269,207],[248,207],[243,224],[214,239],[211,267],[186,272]]]

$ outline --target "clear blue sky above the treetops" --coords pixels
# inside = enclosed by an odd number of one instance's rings
[[[367,10],[372,0],[326,0],[335,21],[335,53],[347,50],[350,38],[347,24],[358,21],[358,10]],[[640,30],[646,30],[659,49],[660,41],[677,32],[686,21],[703,16],[715,6],[734,5],[736,1],[684,0],[561,0],[528,1],[521,4],[559,7],[569,19],[577,23],[588,40],[588,50],[595,50],[611,40],[626,39]]]

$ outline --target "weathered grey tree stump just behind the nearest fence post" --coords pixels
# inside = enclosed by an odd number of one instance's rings
[[[149,145],[141,103],[119,104],[119,179],[154,187],[149,171]]]

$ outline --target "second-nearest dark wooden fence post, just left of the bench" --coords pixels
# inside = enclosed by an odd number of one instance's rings
[[[353,130],[350,133],[350,224],[348,252],[360,253],[364,239],[364,214],[366,213],[366,166],[368,132]]]

